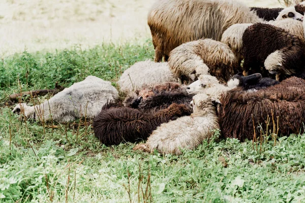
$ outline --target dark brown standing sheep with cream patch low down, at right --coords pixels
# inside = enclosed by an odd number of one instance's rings
[[[304,77],[304,42],[282,28],[269,24],[256,23],[249,26],[242,36],[244,75],[262,73],[276,74],[281,80],[289,76]],[[281,77],[281,78],[280,78]]]

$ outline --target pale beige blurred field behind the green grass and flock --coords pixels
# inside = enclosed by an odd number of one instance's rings
[[[25,49],[55,51],[101,42],[148,39],[147,12],[155,0],[0,0],[0,57]],[[289,0],[239,0],[284,7]],[[298,1],[299,2],[299,1]]]

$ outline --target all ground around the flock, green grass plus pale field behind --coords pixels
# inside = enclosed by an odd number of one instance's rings
[[[163,156],[101,145],[87,120],[25,122],[11,113],[8,95],[20,89],[68,87],[88,75],[115,85],[130,65],[152,59],[152,2],[0,0],[0,202],[305,201],[302,135],[253,145],[219,141],[216,131],[194,151]]]

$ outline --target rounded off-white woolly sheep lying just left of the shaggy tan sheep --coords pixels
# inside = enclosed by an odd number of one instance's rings
[[[146,60],[137,62],[124,71],[117,84],[120,91],[128,94],[141,89],[142,86],[163,82],[180,83],[169,70],[167,62],[156,63]]]

